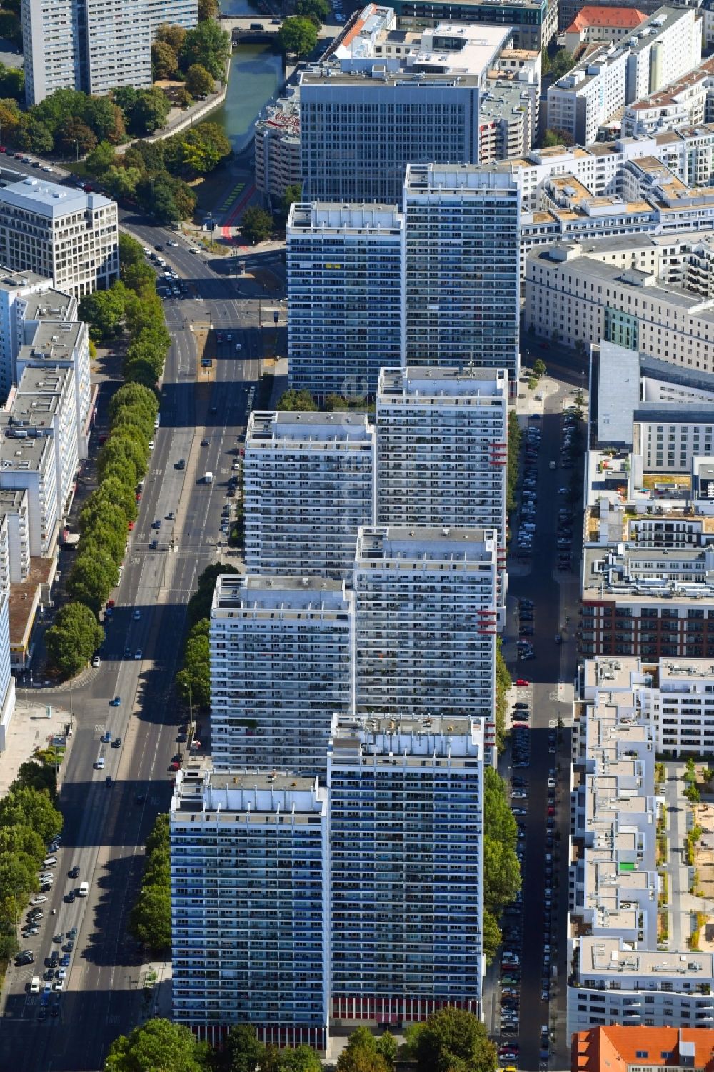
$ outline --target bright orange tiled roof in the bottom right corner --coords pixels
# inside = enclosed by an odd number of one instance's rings
[[[714,1030],[706,1027],[594,1027],[572,1036],[571,1072],[627,1072],[630,1064],[681,1066],[680,1043],[695,1045],[694,1067],[714,1072]]]

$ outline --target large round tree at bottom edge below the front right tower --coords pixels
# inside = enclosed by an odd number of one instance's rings
[[[418,1072],[495,1072],[496,1049],[486,1027],[471,1012],[447,1006],[410,1032]],[[338,1066],[339,1068],[339,1066]]]

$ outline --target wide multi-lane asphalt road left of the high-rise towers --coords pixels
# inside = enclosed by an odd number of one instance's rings
[[[169,234],[142,225],[134,233],[151,247],[165,247]],[[191,281],[192,296],[166,303],[174,342],[139,518],[115,594],[102,666],[71,697],[75,731],[60,795],[59,865],[43,906],[41,934],[23,946],[34,951],[36,961],[11,967],[3,988],[0,1067],[16,1072],[101,1069],[110,1041],[140,1022],[142,961],[127,937],[127,918],[140,880],[144,842],[170,800],[168,765],[178,747],[179,719],[172,685],[185,606],[198,575],[217,559],[233,450],[246,426],[249,385],[258,375],[256,302],[234,297],[235,281],[213,272],[182,240],[178,250],[165,248],[163,256]],[[219,349],[215,382],[205,383],[197,373],[192,321],[232,328],[241,343],[239,354],[235,342]],[[200,446],[203,438],[207,447]],[[179,458],[187,461],[184,471],[175,468]],[[203,481],[207,470],[215,475],[212,485]],[[174,520],[167,519],[169,511]],[[155,519],[162,525],[159,549],[152,551]],[[137,651],[140,658],[134,657]],[[121,698],[118,708],[108,703],[115,696]],[[66,691],[43,690],[41,697],[41,702],[70,704]],[[105,728],[121,736],[121,748],[101,744]],[[93,766],[100,754],[105,759],[101,771]],[[79,879],[70,880],[66,873],[74,865]],[[90,882],[89,896],[64,904],[63,895],[83,880]],[[56,917],[48,914],[50,908]],[[50,1008],[58,1004],[59,1015],[40,1019],[41,999],[26,993],[29,980],[42,973],[44,957],[58,948],[53,936],[72,926],[79,935],[68,988],[49,1001]]]

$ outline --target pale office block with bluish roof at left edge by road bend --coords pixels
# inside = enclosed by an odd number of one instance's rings
[[[0,190],[0,263],[81,298],[119,278],[116,202],[28,178]]]

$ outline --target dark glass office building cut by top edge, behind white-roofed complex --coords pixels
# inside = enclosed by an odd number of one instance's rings
[[[557,0],[449,0],[437,9],[431,0],[392,0],[392,8],[400,26],[416,29],[434,26],[443,18],[510,26],[516,48],[538,53],[548,47],[557,31]]]

